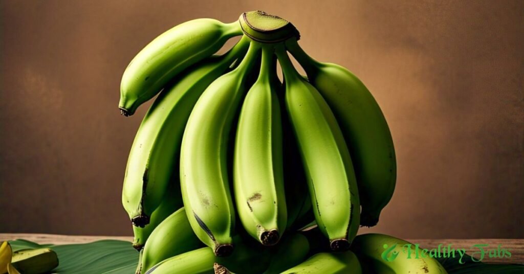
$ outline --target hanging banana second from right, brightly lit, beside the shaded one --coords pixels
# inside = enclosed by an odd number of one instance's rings
[[[360,204],[350,154],[331,109],[277,49],[286,82],[286,106],[307,172],[316,223],[333,250],[349,248],[359,226]]]

